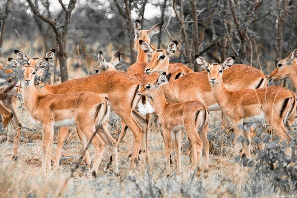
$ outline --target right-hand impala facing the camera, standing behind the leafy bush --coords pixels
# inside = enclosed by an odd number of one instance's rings
[[[209,64],[203,57],[196,56],[198,65],[207,70],[212,94],[220,108],[234,121],[234,127],[244,131],[244,137],[248,141],[251,124],[263,124],[265,121],[281,140],[290,141],[287,128],[295,119],[296,95],[280,86],[230,91],[225,86],[222,75],[226,68],[232,66],[234,59],[232,56],[223,64]],[[250,158],[248,141],[245,141],[245,150]]]

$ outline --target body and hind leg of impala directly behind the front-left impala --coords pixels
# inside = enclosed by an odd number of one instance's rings
[[[68,80],[56,86],[46,84],[43,88],[36,87],[41,95],[68,94],[75,92],[94,92],[108,98],[115,113],[131,129],[134,135],[134,148],[131,166],[135,167],[135,159],[141,146],[147,122],[133,109],[139,100],[136,92],[140,89],[140,81],[124,72],[102,72],[84,78]],[[67,134],[67,130],[65,130]],[[63,137],[65,139],[65,137]],[[63,141],[60,141],[63,142]]]

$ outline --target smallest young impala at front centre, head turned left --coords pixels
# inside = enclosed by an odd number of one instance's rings
[[[209,112],[198,100],[190,100],[181,103],[168,104],[162,91],[162,85],[168,83],[171,73],[160,74],[157,81],[149,82],[137,94],[151,97],[154,101],[158,121],[161,126],[165,142],[166,174],[170,174],[170,152],[172,137],[175,137],[177,150],[178,174],[182,173],[181,167],[181,129],[185,129],[189,139],[193,143],[193,150],[197,152],[195,164],[198,166],[198,173],[201,168],[202,150],[204,153],[205,169],[208,171],[209,144],[207,141],[207,128]],[[202,140],[201,140],[202,139]],[[203,148],[203,149],[202,149]]]

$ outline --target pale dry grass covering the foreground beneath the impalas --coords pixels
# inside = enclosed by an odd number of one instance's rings
[[[10,138],[0,145],[0,197],[56,197],[64,181],[69,177],[71,168],[82,152],[81,144],[74,131],[67,138],[62,151],[61,166],[51,175],[41,172],[41,129],[33,126],[27,112],[20,112],[23,126],[22,142],[19,146],[18,160],[12,161],[12,136],[10,128],[7,130]],[[115,115],[111,118],[117,123]],[[220,113],[212,112],[210,129],[218,128]],[[246,184],[250,178],[247,174],[250,169],[241,164],[235,164],[232,152],[225,156],[210,155],[210,169],[208,173],[200,176],[194,175],[194,168],[190,165],[187,154],[187,140],[184,137],[183,145],[183,174],[175,174],[175,161],[172,164],[172,175],[166,177],[164,173],[165,157],[163,141],[159,129],[152,124],[149,134],[150,158],[145,164],[145,154],[140,155],[141,163],[136,170],[129,169],[130,161],[127,159],[130,132],[124,138],[119,148],[120,177],[112,173],[104,173],[103,168],[109,158],[106,150],[99,166],[97,178],[87,177],[84,162],[74,174],[66,189],[64,197],[246,197],[248,195]],[[115,125],[117,127],[117,125]],[[216,127],[215,127],[216,126]],[[37,128],[37,129],[36,129]],[[115,136],[114,127],[110,127],[111,134]],[[57,134],[55,134],[56,136]],[[54,140],[53,153],[57,142]],[[225,147],[216,145],[215,147]],[[231,150],[231,149],[228,149]],[[93,159],[93,147],[90,148]],[[265,183],[263,183],[265,185]],[[264,187],[265,189],[265,187]],[[265,189],[261,196],[272,195],[273,191]],[[276,196],[276,194],[273,194]]]

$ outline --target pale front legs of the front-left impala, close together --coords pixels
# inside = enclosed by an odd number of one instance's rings
[[[53,125],[52,123],[43,124],[43,137],[42,137],[42,169],[44,173],[51,172],[51,145],[53,139]]]

